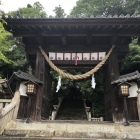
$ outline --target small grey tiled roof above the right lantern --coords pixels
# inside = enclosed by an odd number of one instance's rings
[[[136,80],[140,78],[140,73],[138,71],[129,73],[129,74],[125,74],[125,75],[121,75],[119,77],[119,79],[111,82],[111,84],[118,84],[118,83],[122,83],[122,82],[127,82],[127,81],[132,81],[132,80]]]

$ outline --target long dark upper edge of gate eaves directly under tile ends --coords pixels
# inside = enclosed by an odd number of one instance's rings
[[[7,25],[140,25],[139,18],[8,19]]]

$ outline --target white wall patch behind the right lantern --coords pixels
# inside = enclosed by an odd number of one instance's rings
[[[137,93],[137,90],[138,90],[138,86],[135,82],[131,82],[130,84],[132,84],[132,86],[129,88],[129,96],[128,98],[131,98],[131,97],[137,97],[138,93]]]

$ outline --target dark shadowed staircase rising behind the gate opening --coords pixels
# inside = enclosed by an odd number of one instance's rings
[[[56,120],[87,120],[82,98],[64,98]]]

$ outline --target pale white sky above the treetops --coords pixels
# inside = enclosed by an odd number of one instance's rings
[[[33,5],[39,1],[45,8],[47,15],[55,15],[53,10],[56,6],[61,5],[66,14],[69,14],[78,0],[1,0],[0,9],[5,13],[17,10],[18,8],[26,7],[27,4]]]

